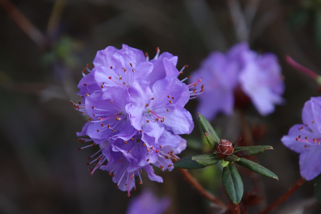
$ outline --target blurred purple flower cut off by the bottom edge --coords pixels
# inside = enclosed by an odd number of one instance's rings
[[[126,214],[162,214],[170,204],[170,199],[157,199],[150,190],[144,190],[130,201]]]

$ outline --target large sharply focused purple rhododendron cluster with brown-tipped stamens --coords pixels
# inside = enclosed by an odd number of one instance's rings
[[[108,46],[97,52],[92,70],[83,70],[78,84],[81,101],[73,103],[89,121],[78,136],[79,141],[99,144],[99,151],[89,158],[98,168],[107,170],[117,187],[123,191],[135,188],[134,177],[146,171],[153,181],[162,178],[152,165],[172,170],[172,158],[186,147],[179,134],[194,128],[191,114],[184,108],[190,98],[203,87],[186,85],[178,79],[182,70],[176,68],[178,57],[165,52],[149,60],[141,50],[123,45],[118,50]],[[86,74],[86,70],[88,74]],[[85,148],[82,147],[82,148]],[[79,148],[81,150],[82,148]],[[152,164],[152,165],[151,165]]]

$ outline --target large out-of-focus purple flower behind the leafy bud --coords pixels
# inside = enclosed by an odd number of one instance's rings
[[[191,80],[199,77],[206,91],[199,97],[197,111],[208,120],[219,112],[231,114],[239,90],[263,116],[272,113],[275,104],[284,102],[281,95],[285,86],[277,57],[273,53],[258,55],[246,42],[234,45],[226,54],[210,53]]]

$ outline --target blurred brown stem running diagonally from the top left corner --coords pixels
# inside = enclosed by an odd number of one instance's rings
[[[0,0],[0,6],[40,48],[47,46],[48,39],[21,11],[9,0]]]

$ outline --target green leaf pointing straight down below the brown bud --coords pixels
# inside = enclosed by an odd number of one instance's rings
[[[244,189],[241,176],[233,164],[223,168],[222,182],[231,201],[238,204],[242,199]]]

